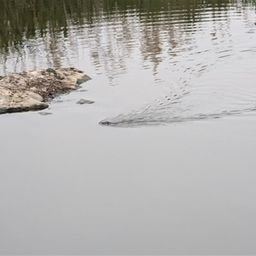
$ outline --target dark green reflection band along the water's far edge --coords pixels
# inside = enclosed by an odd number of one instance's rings
[[[111,19],[114,13],[137,12],[152,16],[157,12],[186,10],[182,19],[193,21],[196,12],[204,12],[205,6],[227,8],[236,1],[212,0],[0,0],[0,48],[21,45],[22,40],[40,36],[49,29],[51,33],[62,32],[67,36],[67,22],[93,26],[97,17]],[[244,4],[250,1],[244,1]],[[251,2],[253,3],[253,1]],[[157,19],[157,17],[155,17]]]

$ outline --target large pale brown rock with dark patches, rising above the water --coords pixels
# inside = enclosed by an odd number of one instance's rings
[[[49,100],[90,79],[76,68],[47,68],[0,76],[0,114],[48,108]]]

